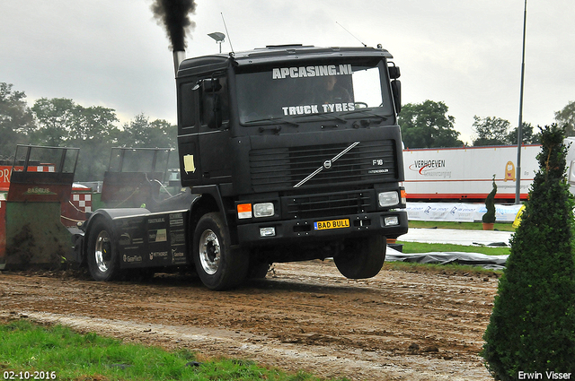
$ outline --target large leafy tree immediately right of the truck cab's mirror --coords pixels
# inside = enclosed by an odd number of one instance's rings
[[[447,115],[444,102],[426,100],[403,105],[399,115],[406,148],[455,147],[463,145],[454,128],[456,118]]]

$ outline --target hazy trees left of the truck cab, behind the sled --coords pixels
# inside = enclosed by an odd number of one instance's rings
[[[112,147],[176,148],[177,126],[144,113],[119,125],[113,108],[84,107],[66,98],[41,98],[29,107],[24,91],[0,82],[0,160],[17,144],[80,148],[75,181],[102,180]]]

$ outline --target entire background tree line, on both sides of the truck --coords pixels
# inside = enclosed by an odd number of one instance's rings
[[[457,147],[464,143],[442,101],[403,105],[399,116],[406,148]],[[575,101],[555,112],[555,121],[575,134]],[[41,98],[29,107],[24,91],[0,82],[0,160],[11,159],[17,144],[80,148],[75,181],[103,178],[112,147],[176,148],[177,126],[144,113],[118,126],[113,108],[84,107],[66,98]],[[517,144],[517,127],[500,117],[473,117],[473,146]],[[525,144],[539,143],[539,134],[523,123]]]

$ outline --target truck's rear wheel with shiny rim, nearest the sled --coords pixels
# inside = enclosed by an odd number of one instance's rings
[[[113,281],[118,277],[119,256],[109,222],[102,219],[94,221],[90,228],[86,261],[94,281]]]

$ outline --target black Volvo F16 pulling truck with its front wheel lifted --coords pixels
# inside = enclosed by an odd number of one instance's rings
[[[386,238],[408,223],[392,56],[301,45],[181,56],[185,191],[93,212],[77,242],[93,278],[193,266],[226,290],[272,263],[325,258],[348,278],[379,273]]]

